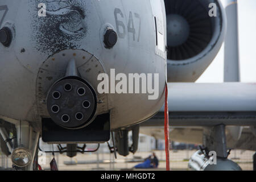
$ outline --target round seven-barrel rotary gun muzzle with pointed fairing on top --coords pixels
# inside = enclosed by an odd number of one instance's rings
[[[67,129],[89,125],[96,113],[96,93],[88,82],[77,76],[75,60],[69,61],[66,76],[51,86],[46,100],[51,119]]]

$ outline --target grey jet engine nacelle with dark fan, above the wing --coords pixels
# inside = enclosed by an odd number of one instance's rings
[[[220,0],[165,0],[167,80],[193,82],[212,63],[224,41],[225,10]]]

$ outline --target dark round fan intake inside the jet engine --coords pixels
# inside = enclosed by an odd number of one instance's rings
[[[170,60],[184,60],[203,51],[213,36],[212,20],[200,1],[167,1],[167,46]]]

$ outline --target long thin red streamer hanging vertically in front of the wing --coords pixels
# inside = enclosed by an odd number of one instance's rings
[[[164,138],[166,140],[166,171],[170,171],[169,154],[169,112],[168,112],[168,88],[166,83],[166,95],[164,101]]]

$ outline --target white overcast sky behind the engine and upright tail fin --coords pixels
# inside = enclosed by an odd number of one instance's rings
[[[256,0],[238,0],[238,26],[241,81],[256,82]],[[223,75],[224,45],[197,82],[223,82]]]

